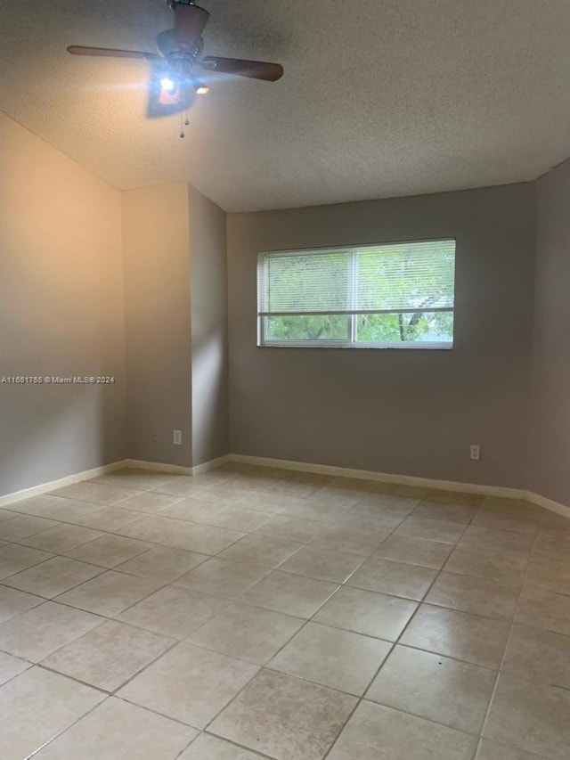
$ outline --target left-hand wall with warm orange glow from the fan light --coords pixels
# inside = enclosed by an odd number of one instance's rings
[[[0,494],[124,457],[120,194],[0,113]]]

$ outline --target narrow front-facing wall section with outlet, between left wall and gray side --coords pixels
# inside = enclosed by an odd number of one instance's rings
[[[127,456],[191,467],[188,185],[131,190],[122,201]]]

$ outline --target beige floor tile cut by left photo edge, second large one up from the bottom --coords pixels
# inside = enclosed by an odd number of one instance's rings
[[[103,622],[102,617],[46,601],[0,625],[0,650],[39,662]]]

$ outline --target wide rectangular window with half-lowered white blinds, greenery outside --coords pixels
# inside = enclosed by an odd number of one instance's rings
[[[258,345],[451,348],[455,241],[257,259]]]

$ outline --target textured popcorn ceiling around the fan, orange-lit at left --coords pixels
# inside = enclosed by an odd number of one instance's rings
[[[118,188],[183,180],[226,210],[533,179],[570,154],[567,0],[204,0],[205,53],[278,61],[145,117],[164,0],[0,0],[0,110]]]

